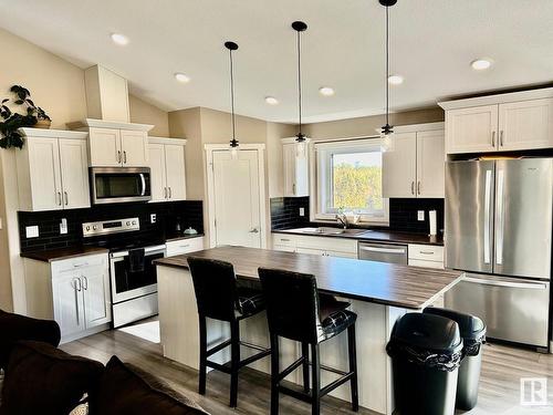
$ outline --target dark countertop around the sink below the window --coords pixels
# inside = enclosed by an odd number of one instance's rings
[[[365,232],[355,235],[333,235],[333,234],[316,234],[316,232],[304,232],[298,229],[273,229],[273,234],[288,234],[288,235],[302,235],[310,237],[323,237],[323,238],[346,238],[356,239],[359,241],[375,241],[375,242],[390,242],[390,243],[421,243],[421,245],[437,245],[444,246],[444,237],[441,235],[429,236],[426,234],[413,234],[413,232],[399,232],[386,229],[367,229]]]

